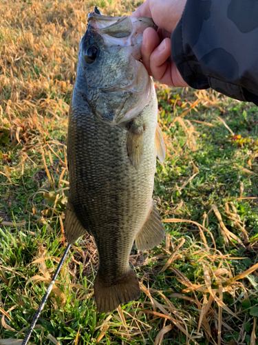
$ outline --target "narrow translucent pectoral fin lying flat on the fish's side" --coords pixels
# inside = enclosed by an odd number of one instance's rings
[[[132,124],[127,136],[127,154],[131,164],[138,170],[142,161],[143,154],[143,127]]]

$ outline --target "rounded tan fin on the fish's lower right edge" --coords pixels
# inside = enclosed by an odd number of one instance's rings
[[[136,248],[139,250],[151,249],[161,244],[165,236],[163,224],[157,208],[152,200],[151,212],[144,226],[136,235]]]

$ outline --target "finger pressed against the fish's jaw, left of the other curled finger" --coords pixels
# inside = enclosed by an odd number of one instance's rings
[[[151,75],[150,57],[153,50],[160,44],[158,33],[153,28],[147,28],[142,37],[142,63]]]

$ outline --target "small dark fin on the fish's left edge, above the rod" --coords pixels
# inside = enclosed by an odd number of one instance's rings
[[[70,244],[75,242],[80,236],[87,233],[87,230],[85,230],[85,228],[80,224],[80,221],[74,212],[74,207],[69,202],[69,199],[65,210],[65,233],[67,241]]]

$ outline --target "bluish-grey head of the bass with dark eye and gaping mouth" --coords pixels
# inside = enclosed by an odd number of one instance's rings
[[[148,27],[155,28],[150,18],[105,16],[97,7],[89,13],[78,55],[78,75],[85,78],[77,77],[76,83],[94,114],[111,125],[138,115],[153,97],[151,79],[139,61]]]

